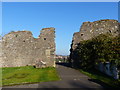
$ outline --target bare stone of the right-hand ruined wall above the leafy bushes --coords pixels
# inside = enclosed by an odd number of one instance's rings
[[[72,51],[77,47],[77,44],[83,40],[89,40],[100,34],[110,33],[113,36],[120,35],[120,23],[117,20],[99,20],[95,22],[84,22],[79,32],[75,32],[71,44]]]

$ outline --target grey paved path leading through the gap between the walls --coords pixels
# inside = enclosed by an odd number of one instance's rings
[[[16,85],[4,88],[103,88],[102,84],[98,84],[88,76],[79,71],[57,65],[57,71],[61,77],[60,81],[41,82],[37,84]]]

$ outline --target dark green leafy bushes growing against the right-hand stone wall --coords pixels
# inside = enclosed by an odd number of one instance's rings
[[[80,42],[73,52],[74,64],[84,69],[108,61],[120,67],[120,36],[101,34],[92,40]]]

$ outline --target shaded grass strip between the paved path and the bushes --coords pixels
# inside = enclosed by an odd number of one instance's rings
[[[90,78],[97,80],[99,82],[102,82],[110,87],[113,88],[120,88],[120,79],[115,80],[110,76],[105,75],[104,73],[101,73],[98,70],[92,69],[92,70],[82,70],[79,69],[79,71],[87,76],[89,76]]]

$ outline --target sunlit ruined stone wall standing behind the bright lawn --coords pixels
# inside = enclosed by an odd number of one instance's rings
[[[55,66],[55,28],[43,28],[38,38],[30,31],[10,32],[2,37],[2,67],[35,65],[42,61]]]

